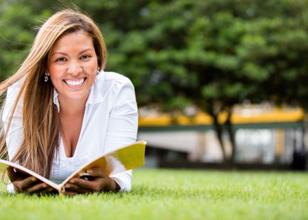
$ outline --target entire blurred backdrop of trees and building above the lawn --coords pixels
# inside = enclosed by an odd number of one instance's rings
[[[0,79],[75,4],[129,77],[147,167],[307,169],[308,0],[0,0]]]

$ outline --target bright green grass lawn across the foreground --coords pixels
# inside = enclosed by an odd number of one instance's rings
[[[308,219],[308,172],[138,169],[130,193],[0,202],[0,219]]]

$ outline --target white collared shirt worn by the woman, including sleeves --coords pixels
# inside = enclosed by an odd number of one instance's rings
[[[20,83],[8,87],[7,99],[2,120],[8,126],[10,111]],[[22,98],[21,98],[22,100]],[[54,90],[53,102],[60,111],[57,92]],[[6,138],[8,155],[11,160],[23,139],[22,101],[18,103],[12,124]],[[55,156],[51,169],[51,180],[62,182],[70,174],[100,154],[136,141],[138,130],[138,109],[131,81],[115,72],[101,71],[90,90],[86,101],[86,111],[81,132],[73,157],[66,157],[62,138],[59,154]],[[131,190],[131,170],[110,176],[121,190]]]

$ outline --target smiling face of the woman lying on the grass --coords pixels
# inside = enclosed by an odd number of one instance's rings
[[[47,67],[59,101],[86,102],[97,68],[97,54],[88,33],[76,31],[60,37],[51,49]]]

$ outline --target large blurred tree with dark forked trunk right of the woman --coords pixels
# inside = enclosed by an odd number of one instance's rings
[[[307,94],[306,87],[296,84],[307,76],[307,14],[305,0],[151,1],[140,8],[140,25],[122,30],[125,38],[111,46],[109,67],[133,79],[140,105],[175,111],[190,103],[207,111],[226,161],[223,127],[229,132],[232,162],[233,105],[303,104],[298,92]]]

